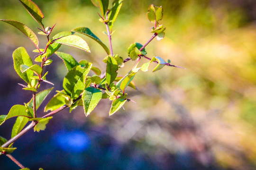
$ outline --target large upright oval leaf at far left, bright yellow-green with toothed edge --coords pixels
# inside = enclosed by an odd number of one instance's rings
[[[28,70],[27,72],[22,73],[20,70],[20,65],[27,65],[28,67],[33,65],[33,62],[28,56],[26,49],[24,47],[19,47],[18,49],[13,51],[12,57],[14,68],[18,76],[20,76],[20,78],[27,82],[27,84],[31,85],[30,77],[34,75],[33,71]]]

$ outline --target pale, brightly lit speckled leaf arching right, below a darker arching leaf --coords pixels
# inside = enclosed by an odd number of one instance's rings
[[[64,45],[68,45],[71,47],[79,48],[86,52],[91,52],[87,42],[84,41],[80,36],[77,36],[77,35],[64,36],[55,42],[58,42],[58,43],[61,43]]]

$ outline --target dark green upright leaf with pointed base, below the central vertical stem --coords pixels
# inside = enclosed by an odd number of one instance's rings
[[[108,56],[106,79],[109,85],[116,79],[118,75],[117,70],[118,70],[118,64],[116,59],[114,59],[112,56]]]

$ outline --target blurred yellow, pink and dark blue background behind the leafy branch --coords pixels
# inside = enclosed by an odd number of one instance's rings
[[[53,34],[86,26],[108,45],[98,21],[99,8],[90,0],[34,0],[45,15],[45,26],[56,23]],[[255,0],[124,0],[114,24],[113,51],[124,59],[133,42],[144,44],[153,26],[146,17],[150,4],[163,6],[165,38],[147,47],[186,69],[165,67],[139,72],[128,87],[125,110],[108,116],[111,102],[102,100],[85,117],[83,109],[64,110],[45,131],[31,130],[14,146],[12,155],[31,170],[255,170],[256,169],[256,1]],[[37,32],[39,25],[18,0],[0,0],[0,18],[25,23]],[[46,39],[38,35],[40,47]],[[64,46],[59,51],[87,59],[105,68],[105,51],[82,35],[91,53]],[[14,104],[32,95],[13,68],[12,52],[23,46],[29,55],[33,44],[16,28],[0,23],[0,108],[7,114]],[[62,89],[67,70],[57,56],[46,67],[54,90]],[[147,60],[142,59],[141,64]],[[134,65],[125,63],[119,75]],[[41,85],[41,90],[51,85]],[[51,93],[53,96],[55,92]],[[50,96],[46,98],[49,100]],[[39,116],[44,106],[39,108]],[[10,138],[15,119],[0,126]],[[1,170],[18,170],[0,156]]]

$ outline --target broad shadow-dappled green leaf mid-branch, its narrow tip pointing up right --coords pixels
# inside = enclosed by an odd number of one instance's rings
[[[66,94],[72,99],[76,99],[84,90],[84,82],[92,64],[89,63],[86,68],[76,66],[72,68],[64,77],[63,88]]]

